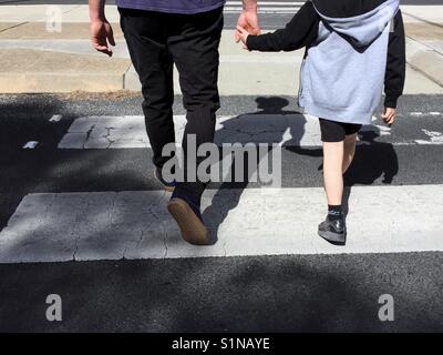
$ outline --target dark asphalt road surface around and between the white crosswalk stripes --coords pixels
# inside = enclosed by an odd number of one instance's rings
[[[179,101],[177,114],[184,113]],[[261,113],[297,110],[293,98],[266,102]],[[348,184],[382,184],[392,159],[400,166],[392,184],[442,184],[442,145],[390,144],[422,129],[442,132],[442,115],[411,114],[441,111],[441,102],[439,95],[404,97],[392,136],[359,146]],[[222,105],[222,115],[260,112],[255,97],[223,98]],[[53,124],[52,114],[63,118]],[[0,229],[28,193],[159,189],[145,172],[148,150],[56,149],[73,119],[105,114],[141,114],[140,97],[0,97]],[[38,148],[23,150],[30,140]],[[318,148],[311,154],[289,148],[284,187],[321,186],[320,165]],[[441,332],[442,262],[443,253],[423,252],[2,264],[0,331]],[[60,323],[45,320],[48,294],[63,300]],[[395,300],[394,322],[378,318],[382,294]]]

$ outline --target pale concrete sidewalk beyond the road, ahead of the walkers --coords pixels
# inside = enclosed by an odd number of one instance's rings
[[[107,8],[117,41],[112,59],[94,52],[90,44],[85,6],[58,8],[61,32],[47,30],[45,6],[21,6],[20,11],[14,6],[1,7],[0,92],[138,91],[115,7]],[[443,94],[443,7],[404,7],[403,12],[409,63],[405,93]],[[302,55],[302,50],[249,53],[234,43],[231,30],[225,30],[220,93],[293,95]]]

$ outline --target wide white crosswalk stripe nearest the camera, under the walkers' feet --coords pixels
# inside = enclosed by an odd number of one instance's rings
[[[443,251],[443,185],[353,187],[344,247],[317,235],[323,189],[207,191],[204,217],[218,242],[204,247],[182,241],[168,196],[27,195],[0,232],[0,263]]]

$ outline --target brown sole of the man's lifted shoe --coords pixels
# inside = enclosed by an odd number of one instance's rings
[[[194,245],[208,245],[208,230],[182,199],[172,199],[167,210],[177,222],[182,237]]]

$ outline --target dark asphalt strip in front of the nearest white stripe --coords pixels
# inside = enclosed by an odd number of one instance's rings
[[[0,266],[0,331],[442,332],[442,253]],[[45,320],[59,294],[62,322]],[[395,301],[380,322],[379,297]]]

